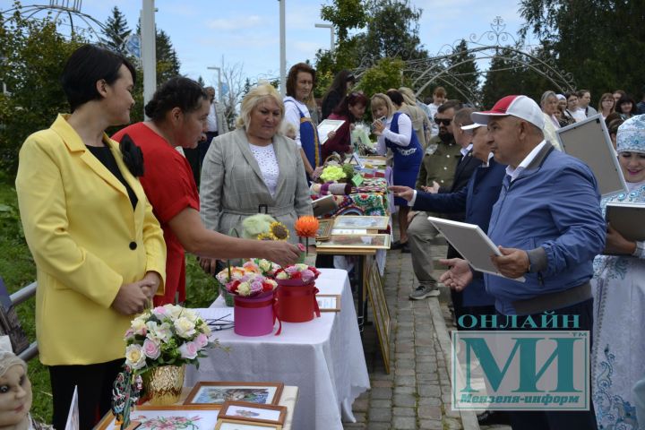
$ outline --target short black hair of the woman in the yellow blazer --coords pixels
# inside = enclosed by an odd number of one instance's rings
[[[96,45],[76,49],[64,65],[61,83],[71,112],[91,100],[101,98],[96,82],[111,85],[120,78],[119,69],[125,65],[136,82],[136,70],[125,56]]]

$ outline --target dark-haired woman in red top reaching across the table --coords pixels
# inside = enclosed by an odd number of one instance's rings
[[[149,121],[125,127],[112,138],[143,153],[143,189],[164,231],[168,248],[166,290],[154,305],[185,301],[185,251],[217,259],[266,258],[297,262],[298,249],[286,242],[237,239],[206,229],[199,215],[193,172],[175,147],[196,148],[206,131],[210,102],[202,86],[184,77],[166,82],[145,107]]]

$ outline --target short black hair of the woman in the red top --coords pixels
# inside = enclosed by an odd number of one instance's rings
[[[190,113],[202,106],[202,100],[208,99],[206,90],[198,82],[177,76],[155,91],[145,106],[145,114],[152,121],[161,121],[175,107],[179,107],[184,113]]]

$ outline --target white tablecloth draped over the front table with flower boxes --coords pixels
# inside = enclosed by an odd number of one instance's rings
[[[369,389],[347,271],[321,269],[319,294],[341,294],[340,313],[323,312],[308,323],[282,323],[282,333],[238,336],[214,331],[219,349],[186,369],[185,383],[198,381],[281,382],[296,385],[299,399],[294,429],[342,430],[341,417],[354,421],[352,403]],[[277,324],[276,324],[277,327]],[[275,332],[275,330],[274,330]]]

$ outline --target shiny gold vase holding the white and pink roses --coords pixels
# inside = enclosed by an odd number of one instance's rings
[[[143,389],[153,406],[168,406],[179,401],[184,387],[185,366],[159,366],[142,374]]]

